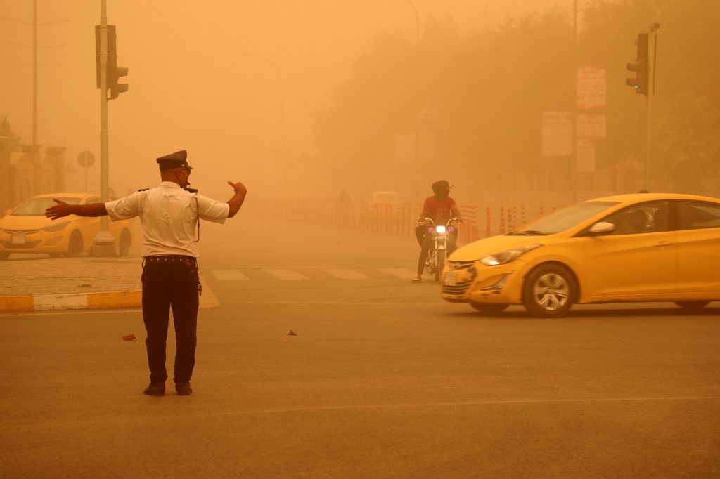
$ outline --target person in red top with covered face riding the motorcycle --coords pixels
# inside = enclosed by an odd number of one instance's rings
[[[413,278],[413,283],[420,283],[423,280],[423,270],[428,259],[428,253],[433,247],[433,235],[428,232],[426,218],[433,219],[435,224],[446,224],[453,216],[459,223],[462,223],[462,214],[450,196],[450,183],[446,180],[438,180],[433,183],[433,196],[429,196],[423,204],[423,212],[418,218],[418,227],[415,228],[415,237],[420,244],[420,257],[418,257],[418,276]],[[457,227],[448,235],[448,255],[457,248]]]

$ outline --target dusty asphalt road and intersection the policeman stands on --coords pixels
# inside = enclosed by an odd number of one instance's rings
[[[484,317],[384,273],[412,269],[405,239],[295,227],[279,247],[226,226],[203,244],[219,306],[192,396],[141,393],[137,309],[0,315],[4,476],[720,475],[717,307]]]

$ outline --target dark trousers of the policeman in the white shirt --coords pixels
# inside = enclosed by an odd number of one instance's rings
[[[146,261],[143,266],[143,321],[148,332],[150,381],[163,383],[168,318],[173,309],[176,355],[175,383],[189,383],[195,365],[197,345],[197,263],[186,261]]]

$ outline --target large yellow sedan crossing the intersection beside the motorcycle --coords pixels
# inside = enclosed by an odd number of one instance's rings
[[[446,262],[442,298],[494,314],[533,316],[573,304],[720,301],[720,199],[636,193],[555,211],[517,231],[480,239]]]

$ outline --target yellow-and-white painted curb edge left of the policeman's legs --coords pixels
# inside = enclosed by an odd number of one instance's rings
[[[142,305],[142,291],[0,296],[0,312],[131,308]]]

